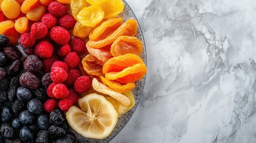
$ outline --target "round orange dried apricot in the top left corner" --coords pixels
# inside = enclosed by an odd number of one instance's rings
[[[1,9],[7,18],[14,19],[20,14],[20,4],[15,0],[4,0]]]

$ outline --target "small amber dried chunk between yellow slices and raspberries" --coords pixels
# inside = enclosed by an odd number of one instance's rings
[[[83,26],[79,21],[76,21],[75,27],[73,29],[73,35],[79,38],[86,38],[90,31],[91,27]]]

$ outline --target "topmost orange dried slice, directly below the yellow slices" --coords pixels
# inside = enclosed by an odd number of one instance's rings
[[[92,41],[100,41],[107,38],[123,24],[122,21],[123,18],[111,18],[107,21],[104,21],[100,24],[100,26],[96,27],[94,30],[91,30],[89,39]]]

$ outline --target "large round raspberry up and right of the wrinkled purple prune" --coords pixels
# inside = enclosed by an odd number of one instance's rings
[[[35,47],[35,54],[40,58],[50,58],[53,55],[53,45],[48,41],[39,42]]]

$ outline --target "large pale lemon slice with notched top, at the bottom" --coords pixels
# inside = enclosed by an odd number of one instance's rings
[[[103,139],[110,135],[118,121],[118,113],[103,96],[89,94],[78,100],[81,108],[72,106],[66,113],[67,122],[86,138]]]

